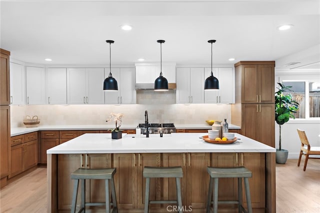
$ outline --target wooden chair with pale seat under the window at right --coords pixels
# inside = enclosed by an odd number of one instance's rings
[[[308,138],[306,137],[306,134],[304,132],[304,130],[301,129],[296,129],[298,131],[298,135],[299,138],[301,140],[301,148],[300,148],[300,155],[299,155],[299,159],[298,159],[298,166],[300,165],[300,161],[301,161],[301,156],[304,155],[305,156],[305,160],[304,160],[304,166],[303,166],[303,171],[305,171],[306,168],[306,163],[308,162],[308,159],[320,159],[317,157],[309,157],[310,154],[318,154],[320,155],[320,147],[319,146],[310,146],[310,143],[308,141]]]

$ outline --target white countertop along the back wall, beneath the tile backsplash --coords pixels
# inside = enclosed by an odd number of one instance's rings
[[[174,124],[177,129],[211,129],[208,124]],[[137,124],[122,124],[121,129],[135,129]],[[11,136],[39,130],[107,130],[113,125],[39,125],[38,127],[11,127]],[[229,124],[229,129],[239,129],[237,125]]]

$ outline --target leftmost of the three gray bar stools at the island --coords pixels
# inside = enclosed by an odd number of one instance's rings
[[[73,183],[73,194],[72,194],[72,205],[71,212],[75,212],[77,191],[79,185],[79,179],[81,181],[81,208],[78,212],[84,210],[85,206],[89,205],[105,205],[105,212],[110,213],[110,205],[112,205],[112,213],[117,212],[115,187],[113,181],[113,175],[115,173],[115,168],[78,168],[71,173],[71,179],[74,179]],[[105,179],[105,202],[85,202],[85,179]],[[112,202],[109,201],[109,180],[111,181],[111,196]]]

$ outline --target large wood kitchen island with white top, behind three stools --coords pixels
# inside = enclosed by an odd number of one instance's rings
[[[70,173],[78,167],[115,167],[119,212],[143,212],[144,166],[182,166],[182,204],[192,212],[205,212],[209,175],[207,166],[243,165],[252,171],[249,180],[254,212],[275,212],[275,149],[235,133],[240,140],[231,144],[203,141],[204,133],[151,134],[135,137],[123,134],[86,133],[47,150],[48,212],[68,212],[71,204]],[[219,181],[219,199],[233,199],[237,181]],[[86,200],[104,201],[103,181],[90,180]],[[150,183],[151,199],[175,197],[174,181],[155,178]],[[79,203],[79,202],[77,202]],[[233,211],[232,206],[219,206]],[[151,212],[166,212],[167,204],[151,204]]]

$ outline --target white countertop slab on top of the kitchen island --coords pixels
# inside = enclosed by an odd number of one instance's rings
[[[158,153],[158,152],[275,152],[275,148],[235,133],[237,140],[230,144],[207,143],[205,133],[150,134],[146,138],[122,134],[111,139],[110,133],[86,133],[46,151],[48,154],[71,153]]]

